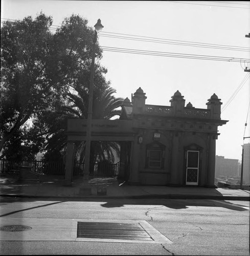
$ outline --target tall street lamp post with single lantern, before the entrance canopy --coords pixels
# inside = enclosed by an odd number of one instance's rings
[[[93,52],[92,52],[92,62],[91,62],[91,69],[90,69],[90,84],[89,84],[89,92],[88,92],[89,95],[88,95],[88,112],[87,112],[87,131],[86,131],[86,146],[85,146],[85,161],[84,161],[85,163],[84,163],[84,173],[83,173],[84,180],[88,180],[88,176],[89,176],[96,41],[97,41],[97,33],[102,31],[102,29],[103,29],[100,19],[98,19],[97,24],[94,27],[95,27],[95,34],[94,34],[94,38],[93,38]]]

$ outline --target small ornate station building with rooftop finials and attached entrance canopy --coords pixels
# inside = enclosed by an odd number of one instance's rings
[[[122,105],[119,120],[93,120],[92,140],[121,146],[119,178],[129,184],[215,187],[215,148],[221,101],[213,94],[197,109],[176,91],[170,106],[146,104],[139,88]],[[85,130],[84,130],[85,129]],[[69,119],[65,179],[72,175],[75,140],[85,140],[86,120]]]

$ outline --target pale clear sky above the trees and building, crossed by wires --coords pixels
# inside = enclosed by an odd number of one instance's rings
[[[100,18],[104,26],[98,34],[100,46],[123,51],[104,50],[100,60],[108,70],[106,79],[116,89],[115,96],[131,100],[131,94],[141,87],[146,104],[170,105],[178,90],[186,104],[207,109],[206,103],[215,93],[224,107],[221,119],[229,120],[218,126],[216,155],[241,160],[241,145],[250,142],[249,138],[243,140],[250,137],[250,72],[244,72],[250,63],[214,57],[250,59],[246,49],[250,38],[245,37],[250,33],[250,2],[1,0],[1,7],[1,22],[35,18],[41,11],[53,17],[55,26],[72,14],[86,18],[88,26]],[[125,48],[143,54],[125,53]],[[155,56],[145,51],[203,57]]]

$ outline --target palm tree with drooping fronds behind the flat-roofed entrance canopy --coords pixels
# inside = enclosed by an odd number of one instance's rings
[[[78,118],[87,118],[88,93],[85,88],[75,87],[77,94],[68,93],[70,105],[64,109]],[[116,119],[121,114],[118,108],[123,104],[123,98],[116,98],[116,90],[110,87],[95,88],[93,95],[93,119]],[[85,141],[76,143],[76,161],[84,161]],[[90,146],[90,166],[94,168],[97,161],[114,162],[115,155],[120,154],[120,146],[113,141],[92,141]]]

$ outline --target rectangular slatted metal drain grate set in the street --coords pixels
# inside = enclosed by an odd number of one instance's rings
[[[77,222],[78,238],[152,241],[140,223]]]

